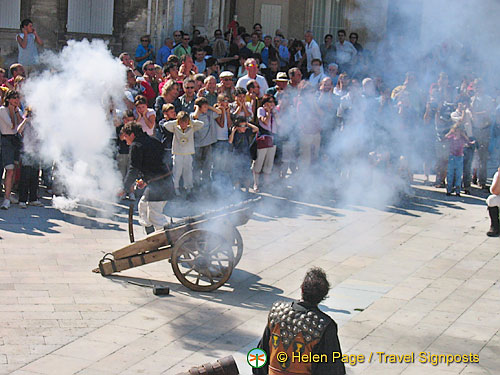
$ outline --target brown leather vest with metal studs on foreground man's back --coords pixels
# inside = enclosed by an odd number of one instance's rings
[[[311,353],[329,323],[328,316],[309,311],[296,302],[274,303],[268,317],[269,375],[311,374],[311,362],[299,361],[297,355]],[[278,361],[279,352],[287,354],[286,361]]]

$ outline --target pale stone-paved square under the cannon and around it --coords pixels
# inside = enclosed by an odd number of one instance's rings
[[[345,353],[416,353],[414,364],[380,364],[374,354],[349,374],[498,373],[499,239],[485,236],[484,196],[415,191],[384,210],[263,194],[240,227],[238,268],[212,293],[183,287],[167,261],[111,278],[92,273],[127,243],[125,207],[105,219],[99,205],[13,206],[0,212],[0,373],[177,374],[232,354],[250,374],[246,353],[269,307],[299,297],[313,265],[332,283],[321,308],[338,322]],[[418,363],[419,352],[480,360],[432,366]]]

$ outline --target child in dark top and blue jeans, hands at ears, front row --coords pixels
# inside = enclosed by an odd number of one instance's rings
[[[233,121],[229,143],[232,149],[232,175],[233,184],[236,189],[239,187],[248,190],[250,186],[250,143],[252,136],[259,131],[259,128],[247,122],[246,117],[238,116]]]

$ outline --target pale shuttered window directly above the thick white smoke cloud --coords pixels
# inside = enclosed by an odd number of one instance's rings
[[[67,30],[72,33],[113,34],[114,0],[68,0]]]

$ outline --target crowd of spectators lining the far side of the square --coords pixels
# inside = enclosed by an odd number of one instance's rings
[[[26,40],[42,43],[22,27],[20,51]],[[135,121],[162,143],[179,199],[193,197],[193,189],[304,184],[309,175],[349,179],[359,161],[398,176],[404,192],[415,173],[427,184],[436,174],[433,183],[448,195],[470,194],[473,183],[486,188],[500,102],[474,62],[460,50],[440,59],[438,48],[398,74],[377,53],[384,52],[363,48],[356,32],[338,30],[319,44],[311,31],[304,40],[280,30],[263,35],[258,23],[251,32],[216,30],[212,39],[176,30],[158,51],[144,35],[133,56],[119,55],[127,76],[123,108],[113,110],[118,169],[125,178],[129,148],[120,131]],[[19,99],[23,65],[10,67],[10,79],[0,69],[4,209],[18,201],[10,194],[18,165],[22,207],[40,203],[38,167],[51,185],[50,166],[22,152],[29,128]]]

